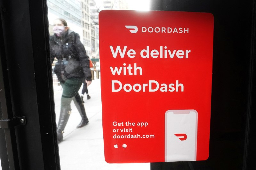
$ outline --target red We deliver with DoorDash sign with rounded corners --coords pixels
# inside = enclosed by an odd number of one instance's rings
[[[105,160],[205,160],[209,155],[213,16],[99,14]]]

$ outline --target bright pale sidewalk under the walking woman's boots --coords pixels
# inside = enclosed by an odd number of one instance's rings
[[[71,102],[72,112],[63,134],[63,142],[59,144],[61,170],[149,170],[150,163],[108,164],[105,162],[100,79],[92,80],[88,91],[91,99],[85,100],[84,106],[89,124],[85,127],[76,129],[81,116],[74,103]],[[61,94],[61,86],[54,85],[56,122],[59,121]]]

